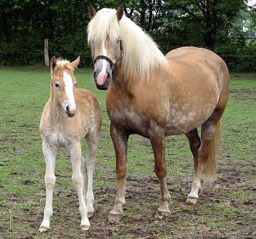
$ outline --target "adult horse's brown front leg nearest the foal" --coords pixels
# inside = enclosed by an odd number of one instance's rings
[[[110,133],[116,154],[116,178],[117,191],[114,208],[110,211],[108,220],[110,223],[120,222],[123,219],[123,207],[125,205],[124,186],[126,178],[127,141],[129,135],[110,125]]]

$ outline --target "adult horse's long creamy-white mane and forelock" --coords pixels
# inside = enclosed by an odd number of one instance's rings
[[[148,80],[158,69],[168,65],[151,37],[125,15],[118,21],[115,9],[99,10],[89,22],[87,32],[92,47],[102,46],[107,37],[111,47],[121,37],[124,56],[119,74],[125,80],[132,77]]]

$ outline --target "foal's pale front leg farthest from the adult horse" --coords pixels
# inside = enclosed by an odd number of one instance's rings
[[[46,187],[46,202],[44,208],[43,221],[39,227],[39,232],[47,231],[50,228],[50,218],[53,214],[52,210],[52,197],[53,188],[55,185],[56,177],[54,175],[55,162],[57,156],[57,148],[50,145],[48,142],[43,140],[42,150],[46,164],[46,171],[44,176],[44,182]]]

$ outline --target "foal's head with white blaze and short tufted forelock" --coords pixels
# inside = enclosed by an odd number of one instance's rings
[[[73,75],[75,68],[79,64],[80,56],[73,62],[56,59],[53,56],[50,60],[51,87],[53,97],[63,107],[67,117],[72,117],[76,112],[74,99],[74,87],[76,79]]]

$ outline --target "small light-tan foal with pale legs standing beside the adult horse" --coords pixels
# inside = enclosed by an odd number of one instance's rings
[[[96,164],[96,150],[101,128],[100,106],[93,94],[85,89],[75,89],[73,75],[80,57],[75,61],[51,58],[50,99],[46,103],[41,121],[42,150],[46,163],[46,203],[44,218],[39,231],[50,228],[52,216],[52,194],[55,184],[55,161],[59,147],[65,147],[72,163],[72,182],[79,198],[81,229],[88,230],[88,217],[93,215],[94,196],[92,192],[93,170]],[[80,140],[88,144],[88,156],[81,153]]]

